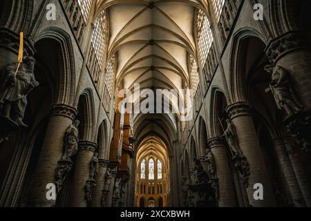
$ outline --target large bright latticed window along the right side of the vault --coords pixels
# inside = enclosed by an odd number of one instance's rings
[[[211,35],[211,25],[209,19],[205,15],[205,12],[198,10],[196,16],[196,28],[198,35],[198,49],[200,51],[200,59],[202,67],[205,66],[211,44],[213,43],[213,36]]]

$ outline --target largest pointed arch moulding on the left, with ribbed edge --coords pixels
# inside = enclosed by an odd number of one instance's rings
[[[57,59],[59,61],[59,75],[57,75],[57,95],[55,103],[72,106],[75,101],[75,56],[70,35],[61,28],[51,27],[43,30],[35,41],[51,39],[57,45]],[[47,46],[47,45],[46,45]],[[46,47],[44,47],[46,48]]]

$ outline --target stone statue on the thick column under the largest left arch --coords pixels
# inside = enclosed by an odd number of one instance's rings
[[[68,126],[66,133],[64,135],[64,155],[62,160],[70,160],[70,157],[77,153],[78,142],[79,142],[79,131],[78,126],[79,120],[75,120],[72,125]]]

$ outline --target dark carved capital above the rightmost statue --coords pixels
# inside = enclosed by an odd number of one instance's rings
[[[302,32],[287,32],[284,35],[272,39],[265,49],[267,57],[272,64],[293,50],[308,48],[308,40]]]

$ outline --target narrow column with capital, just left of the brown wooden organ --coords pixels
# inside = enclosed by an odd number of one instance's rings
[[[93,200],[91,207],[102,207],[102,191],[104,189],[105,175],[109,160],[100,159],[100,166],[96,176],[96,186],[93,190]]]

